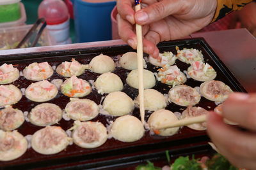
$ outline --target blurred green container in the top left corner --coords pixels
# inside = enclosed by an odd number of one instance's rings
[[[19,20],[20,0],[0,1],[0,23]]]

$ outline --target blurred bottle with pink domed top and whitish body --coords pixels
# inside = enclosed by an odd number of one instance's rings
[[[47,29],[57,43],[68,43],[69,13],[61,0],[44,0],[38,7],[38,17],[45,18]]]

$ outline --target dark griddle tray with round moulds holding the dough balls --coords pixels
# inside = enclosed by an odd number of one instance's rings
[[[160,52],[170,51],[173,53],[177,53],[175,50],[175,46],[179,46],[180,50],[182,48],[196,48],[201,50],[205,62],[208,62],[217,72],[217,76],[215,80],[220,80],[226,83],[232,90],[245,92],[244,88],[241,84],[236,80],[236,78],[228,71],[227,67],[221,62],[218,58],[216,53],[214,53],[209,45],[205,42],[203,38],[193,38],[193,39],[180,39],[176,41],[166,41],[163,43],[159,43],[158,47]],[[60,51],[51,51],[51,52],[38,52],[38,53],[24,53],[24,54],[17,54],[17,55],[2,55],[0,56],[0,66],[1,64],[18,64],[16,66],[19,71],[22,71],[24,67],[28,66],[32,62],[49,62],[51,66],[58,66],[61,62],[70,61],[72,58],[78,60],[82,64],[89,64],[90,60],[93,57],[103,53],[104,55],[109,55],[115,61],[118,58],[118,55],[122,55],[126,52],[131,52],[131,47],[127,45],[117,45],[117,46],[101,46],[101,47],[93,47],[93,48],[81,48],[81,49],[74,49],[74,50],[60,50]],[[147,56],[147,54],[144,54]],[[177,66],[180,68],[181,71],[188,69],[189,64],[184,62],[180,62],[178,59],[176,60]],[[152,72],[157,72],[159,67],[153,66],[149,62],[147,62],[147,69]],[[123,69],[122,67],[116,67],[113,73],[120,76],[121,80],[124,83],[124,90],[128,96],[132,99],[138,95],[138,90],[133,89],[127,85],[125,79],[127,78],[127,74],[129,73],[128,70]],[[92,73],[91,71],[85,71],[84,74],[78,76],[79,78],[83,78],[84,80],[96,80],[100,74]],[[56,78],[61,78],[65,80],[65,78],[61,77],[59,74],[54,71],[54,74],[48,80],[51,81]],[[24,76],[20,76],[19,80],[13,82],[12,84],[19,87],[19,89],[28,87],[31,83],[35,81],[26,80]],[[192,78],[189,78],[185,85],[189,85],[191,87],[199,87],[202,82],[195,81]],[[162,94],[168,94],[170,90],[170,86],[165,85],[161,82],[157,82],[156,86],[153,89],[158,90]],[[106,96],[106,94],[104,95]],[[102,95],[97,93],[96,89],[93,89],[92,92],[86,96],[81,97],[86,99],[91,99],[95,101],[95,103],[100,104],[100,99]],[[47,103],[54,103],[60,106],[61,109],[64,109],[66,104],[69,102],[69,97],[64,96],[59,91],[58,95],[48,101]],[[36,103],[26,99],[25,96],[22,96],[22,99],[19,103],[14,104],[13,108],[18,108],[22,111],[31,111],[36,105],[40,103]],[[196,106],[201,106],[206,110],[213,110],[216,107],[216,104],[212,101],[205,99],[204,97],[201,98],[200,103],[196,104]],[[171,110],[173,112],[178,111],[182,113],[182,111],[186,108],[182,106],[177,106],[176,104],[168,104],[166,107],[167,110]],[[132,115],[135,117],[140,118],[139,109],[136,108]],[[146,112],[145,120],[148,119],[150,113]],[[116,117],[109,117],[106,115],[100,115],[96,118],[93,118],[92,121],[100,121],[102,124],[107,125],[108,120],[115,120]],[[60,126],[67,131],[70,127],[73,126],[74,120],[66,121],[62,119],[59,123]],[[24,136],[28,134],[34,134],[39,129],[43,127],[38,127],[33,125],[29,122],[24,122],[17,130],[23,134]],[[99,148],[93,149],[85,149],[81,148],[75,144],[67,146],[66,150],[63,150],[60,153],[54,155],[42,155],[40,153],[36,153],[32,148],[29,148],[24,155],[20,158],[8,161],[8,162],[0,162],[0,169],[2,168],[10,168],[13,169],[15,167],[22,167],[22,168],[36,168],[36,167],[47,167],[58,165],[58,164],[74,164],[74,162],[79,162],[83,160],[93,160],[99,157],[110,157],[111,155],[122,155],[124,153],[136,153],[136,152],[148,152],[148,150],[152,149],[160,149],[165,148],[166,146],[181,146],[181,145],[190,145],[191,143],[196,143],[200,141],[207,141],[209,140],[205,131],[195,131],[193,129],[189,129],[188,127],[182,127],[182,129],[177,132],[177,134],[170,136],[170,137],[162,137],[162,136],[152,136],[149,132],[145,132],[143,138],[139,141],[135,141],[132,143],[124,143],[121,141],[117,141],[113,138],[108,139],[104,145],[100,146]]]

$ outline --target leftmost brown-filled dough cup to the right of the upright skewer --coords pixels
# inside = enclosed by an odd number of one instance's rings
[[[178,85],[170,89],[168,93],[170,101],[180,106],[194,106],[199,103],[201,96],[188,85]]]

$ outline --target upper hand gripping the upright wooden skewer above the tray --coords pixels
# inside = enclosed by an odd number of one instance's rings
[[[157,43],[202,29],[214,17],[216,5],[216,0],[142,0],[143,9],[135,13],[134,0],[118,0],[118,33],[136,49],[134,24],[143,25],[143,50],[158,57]]]

